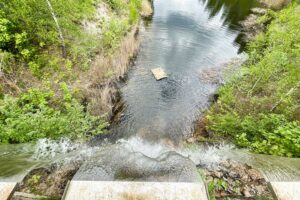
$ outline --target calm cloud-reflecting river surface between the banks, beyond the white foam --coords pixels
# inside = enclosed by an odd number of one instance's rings
[[[203,71],[218,71],[241,48],[239,21],[253,0],[156,0],[154,16],[142,32],[142,46],[121,92],[124,115],[113,126],[118,138],[178,142],[208,105],[217,85],[201,81]],[[156,81],[151,69],[168,78]]]

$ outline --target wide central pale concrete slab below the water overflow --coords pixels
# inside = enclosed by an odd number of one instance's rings
[[[203,183],[71,181],[64,200],[207,200]]]

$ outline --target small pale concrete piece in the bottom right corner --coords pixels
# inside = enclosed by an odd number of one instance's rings
[[[271,182],[278,200],[299,200],[300,182]]]

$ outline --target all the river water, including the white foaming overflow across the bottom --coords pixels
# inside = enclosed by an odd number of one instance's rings
[[[269,179],[300,177],[299,159],[255,155],[228,145],[181,144],[218,87],[218,80],[202,75],[218,74],[224,63],[241,56],[239,21],[257,5],[253,0],[155,0],[153,19],[140,31],[138,56],[120,88],[124,106],[111,126],[116,143],[88,147],[42,140],[0,146],[0,177],[24,175],[30,167],[66,158],[88,160],[74,177],[80,180],[193,182],[198,181],[195,164],[226,158],[248,161]],[[156,81],[151,74],[156,67],[168,78]]]

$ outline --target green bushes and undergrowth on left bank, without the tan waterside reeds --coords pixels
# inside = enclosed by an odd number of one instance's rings
[[[90,87],[82,85],[92,73],[102,82],[115,74],[111,62],[138,24],[143,5],[141,0],[1,1],[0,143],[102,133],[108,123],[92,115]],[[97,65],[97,56],[110,62]]]

